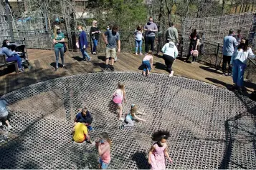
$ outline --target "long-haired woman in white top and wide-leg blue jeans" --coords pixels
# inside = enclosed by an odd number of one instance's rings
[[[253,54],[252,49],[249,47],[249,41],[247,39],[242,39],[241,44],[237,46],[237,49],[234,51],[230,61],[230,64],[233,66],[233,90],[243,90],[244,73],[248,57],[255,59],[255,54]]]

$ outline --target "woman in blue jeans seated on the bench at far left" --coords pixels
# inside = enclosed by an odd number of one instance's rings
[[[4,54],[7,62],[16,61],[20,72],[24,72],[24,67],[22,67],[22,59],[16,53],[16,51],[10,50],[10,42],[8,39],[3,41],[0,54]]]

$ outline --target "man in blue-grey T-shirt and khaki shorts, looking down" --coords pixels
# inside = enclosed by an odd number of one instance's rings
[[[106,37],[107,36],[107,37]],[[107,45],[106,49],[106,60],[105,60],[105,68],[104,71],[115,71],[114,69],[114,61],[116,56],[116,44],[118,42],[118,53],[120,53],[120,34],[118,33],[118,26],[113,26],[113,29],[106,31],[103,34],[103,41],[105,41],[105,44]],[[109,58],[111,58],[111,64],[109,63]]]

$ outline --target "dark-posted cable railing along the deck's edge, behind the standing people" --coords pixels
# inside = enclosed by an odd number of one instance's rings
[[[54,46],[52,44],[52,33],[48,33],[46,31],[42,30],[19,30],[19,37],[24,37],[25,44],[27,48],[30,49],[54,49]],[[67,46],[68,51],[78,51],[77,47],[75,46],[79,33],[77,31],[63,31],[65,34],[65,43]],[[104,31],[102,31],[102,34]],[[90,51],[93,43],[90,39],[89,33],[87,34],[87,41],[89,42],[89,47],[87,48],[87,51]],[[134,52],[135,51],[135,38],[133,35],[133,31],[120,31],[120,41],[121,41],[121,51],[122,52]],[[158,43],[164,44],[165,39],[162,40],[162,42],[158,42],[158,37],[163,37],[162,34],[156,34],[155,39],[155,51],[158,51]],[[17,39],[18,37],[15,36]],[[184,47],[183,41],[180,41],[181,44],[179,44],[179,56],[184,57],[188,54],[188,49]],[[185,42],[187,44],[188,42]],[[144,51],[145,42],[143,40],[143,51]],[[223,45],[221,43],[213,42],[204,40],[204,44],[202,46],[199,46],[199,57],[197,58],[197,61],[199,63],[202,63],[204,65],[210,66],[212,68],[215,68],[217,70],[222,69],[222,47]],[[105,42],[103,41],[103,36],[100,35],[100,39],[98,41],[97,51],[99,53],[105,53]],[[252,77],[252,72],[254,73],[256,69],[250,69],[256,67],[255,61],[252,59],[248,60],[247,64],[247,75],[250,75]],[[254,74],[256,75],[256,74]],[[248,78],[250,79],[250,78]],[[256,80],[256,78],[253,78]]]

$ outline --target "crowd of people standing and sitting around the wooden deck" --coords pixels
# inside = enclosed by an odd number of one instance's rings
[[[77,49],[80,49],[82,54],[82,61],[91,61],[90,55],[87,53],[87,35],[82,26],[77,26],[79,31]],[[135,41],[135,55],[142,54],[142,44],[145,41],[145,56],[142,60],[143,75],[148,76],[151,69],[153,69],[153,54],[154,54],[154,41],[156,33],[158,32],[158,26],[153,22],[153,18],[150,17],[148,22],[144,26],[137,26],[134,31]],[[242,31],[237,30],[237,35],[233,30],[229,31],[229,35],[224,37],[223,41],[223,62],[222,71],[225,76],[233,75],[234,87],[232,89],[242,90],[243,88],[243,75],[247,58],[255,58],[255,55],[250,49],[249,41],[242,37]],[[96,54],[98,41],[100,40],[101,31],[98,27],[98,22],[93,21],[93,25],[90,28],[90,39],[93,42],[92,54]],[[102,34],[103,41],[106,44],[105,51],[105,66],[103,71],[115,71],[114,63],[117,61],[117,52],[120,52],[120,34],[118,33],[118,26],[107,26],[106,31]],[[204,51],[204,39],[205,36],[199,36],[196,29],[192,29],[189,35],[189,51],[186,56],[186,62],[190,62],[189,59],[192,56],[191,64],[196,61],[196,57],[202,54]],[[62,68],[67,69],[65,66],[65,35],[62,33],[60,26],[54,25],[54,31],[52,34],[52,43],[54,44],[54,53],[56,56],[55,71],[59,68],[59,56],[62,61]],[[171,69],[176,57],[179,54],[177,46],[179,45],[179,34],[174,23],[170,24],[169,29],[166,30],[166,44],[161,51],[163,52],[163,60],[166,64],[166,71],[169,71],[169,76],[174,76],[174,70]],[[150,48],[149,48],[150,46]],[[117,49],[117,51],[116,51]],[[5,39],[0,49],[0,54],[6,56],[6,61],[16,61],[19,71],[23,72],[22,59],[19,57],[16,51],[11,51],[9,40]],[[228,69],[227,69],[228,67]]]

